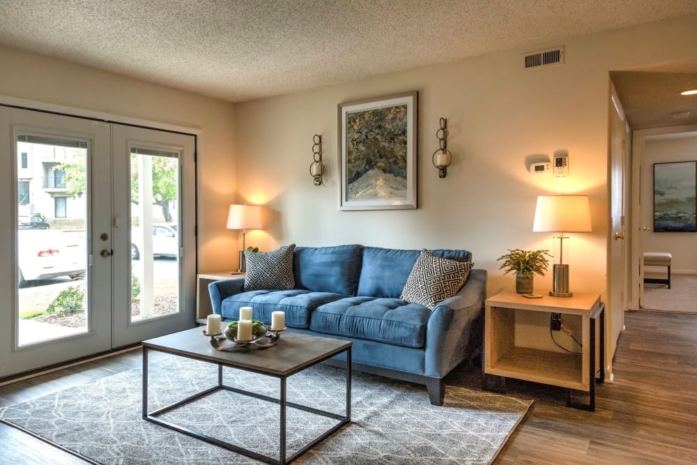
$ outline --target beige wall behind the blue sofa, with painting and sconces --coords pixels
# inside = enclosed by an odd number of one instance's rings
[[[507,248],[549,248],[533,233],[537,195],[590,195],[593,232],[574,234],[572,291],[605,294],[608,234],[608,72],[694,57],[697,16],[539,44],[441,66],[383,75],[236,105],[238,201],[265,204],[267,229],[247,244],[361,243],[381,247],[463,247],[489,270],[489,293],[513,286],[496,261]],[[565,64],[523,70],[523,52],[565,46]],[[419,208],[339,211],[337,104],[419,91]],[[454,154],[438,178],[431,153],[440,117]],[[309,176],[312,135],[321,134],[325,184]],[[528,174],[528,155],[565,149],[569,177]],[[535,278],[535,291],[551,275]]]

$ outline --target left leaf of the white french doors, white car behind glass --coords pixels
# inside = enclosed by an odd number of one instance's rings
[[[111,261],[94,251],[112,247],[99,240],[110,139],[107,123],[0,107],[0,217],[15,219],[0,223],[0,378],[112,346]],[[56,167],[66,187],[52,182]],[[56,194],[70,218],[55,215]]]

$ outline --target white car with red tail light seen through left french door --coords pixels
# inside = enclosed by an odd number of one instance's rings
[[[17,231],[17,280],[84,276],[86,255],[84,235],[72,231],[26,229]]]

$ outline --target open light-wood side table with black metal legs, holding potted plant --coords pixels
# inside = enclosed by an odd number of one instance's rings
[[[559,313],[581,317],[581,353],[531,349],[516,345],[516,318],[525,312]],[[596,321],[599,319],[599,344]],[[599,354],[596,352],[599,345]],[[595,383],[605,381],[605,305],[597,294],[573,297],[528,299],[513,291],[504,291],[487,299],[484,317],[484,388],[505,390],[505,378],[569,388],[567,406],[595,411]],[[599,375],[597,363],[599,360]],[[487,374],[502,376],[502,387],[490,389]],[[574,402],[572,390],[588,392],[590,402]]]

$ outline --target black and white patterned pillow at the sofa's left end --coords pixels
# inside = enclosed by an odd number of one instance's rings
[[[258,289],[293,289],[293,250],[295,244],[284,245],[272,252],[249,252],[245,250],[247,275],[245,291]]]

